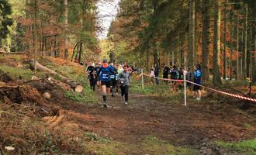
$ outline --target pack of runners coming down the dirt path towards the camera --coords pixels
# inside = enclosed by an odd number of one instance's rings
[[[107,107],[106,94],[112,93],[112,97],[118,95],[119,88],[121,89],[121,96],[124,100],[124,105],[128,105],[128,94],[130,87],[130,74],[132,74],[132,67],[127,64],[113,64],[108,63],[106,59],[102,63],[95,65],[92,62],[88,63],[86,70],[90,87],[95,91],[95,86],[98,85],[99,91],[102,92],[103,106]]]

